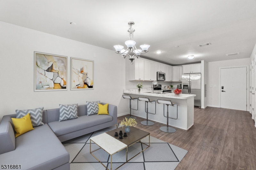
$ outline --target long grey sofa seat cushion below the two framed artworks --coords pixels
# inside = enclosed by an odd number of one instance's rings
[[[71,119],[67,121],[50,122],[48,125],[56,136],[65,135],[77,130],[96,126],[105,122],[110,122],[113,117],[110,115],[90,115],[80,116],[78,119]]]

